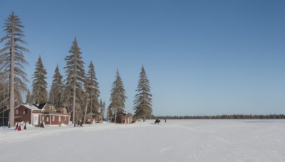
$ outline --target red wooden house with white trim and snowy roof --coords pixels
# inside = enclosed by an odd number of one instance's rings
[[[20,104],[15,107],[15,122],[28,122],[34,126],[44,121],[46,125],[68,124],[71,116],[66,109],[56,111],[56,108],[48,103],[45,104]]]

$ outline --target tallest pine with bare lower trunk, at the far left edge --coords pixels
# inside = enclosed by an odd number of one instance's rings
[[[0,50],[0,71],[6,76],[4,82],[9,83],[9,95],[7,97],[10,101],[9,121],[11,127],[14,126],[15,102],[16,104],[22,102],[21,93],[27,90],[24,82],[28,82],[26,73],[23,71],[23,65],[28,64],[23,53],[28,52],[28,49],[21,46],[21,44],[27,44],[26,41],[22,40],[24,32],[21,28],[24,26],[21,25],[19,16],[12,12],[4,23],[5,36],[0,39],[0,43],[6,41],[4,48]]]

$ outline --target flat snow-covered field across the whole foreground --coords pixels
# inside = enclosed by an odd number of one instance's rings
[[[0,127],[0,161],[285,161],[285,120]]]

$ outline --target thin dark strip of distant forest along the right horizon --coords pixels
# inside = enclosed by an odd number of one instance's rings
[[[214,116],[152,116],[152,119],[285,119],[285,114],[232,114]]]

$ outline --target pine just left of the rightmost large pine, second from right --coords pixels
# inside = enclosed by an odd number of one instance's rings
[[[110,107],[115,109],[115,122],[117,121],[117,113],[123,112],[125,109],[125,89],[123,81],[120,78],[119,71],[117,69],[115,81],[111,90]]]

